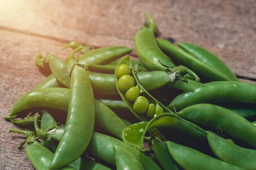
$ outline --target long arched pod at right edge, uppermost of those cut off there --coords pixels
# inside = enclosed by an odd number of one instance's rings
[[[199,103],[245,102],[256,103],[256,84],[237,81],[216,81],[195,86],[168,105],[169,109],[180,111]]]

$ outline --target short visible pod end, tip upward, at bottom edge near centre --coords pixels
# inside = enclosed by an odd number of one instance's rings
[[[129,150],[114,145],[117,170],[144,170],[139,160]]]

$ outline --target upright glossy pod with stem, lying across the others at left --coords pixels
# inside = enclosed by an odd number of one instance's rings
[[[66,166],[76,160],[89,145],[94,129],[95,110],[91,81],[73,57],[79,50],[81,48],[76,48],[66,59],[71,77],[69,108],[64,134],[50,169]]]

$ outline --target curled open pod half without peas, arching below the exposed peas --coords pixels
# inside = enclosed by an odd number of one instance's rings
[[[141,149],[144,136],[150,128],[172,129],[186,135],[189,139],[196,139],[198,142],[206,141],[204,129],[174,113],[162,113],[155,116],[149,122],[139,122],[127,126],[123,130],[123,141],[135,146],[137,149]]]

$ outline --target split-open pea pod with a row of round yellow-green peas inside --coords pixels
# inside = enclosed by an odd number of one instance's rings
[[[125,65],[126,72],[123,73],[122,71],[119,70],[121,65]],[[125,77],[126,79],[124,79],[123,77]],[[129,82],[126,81],[127,78]],[[173,77],[171,76],[170,81],[173,81],[174,79],[175,79],[175,73],[173,73]],[[170,109],[165,107],[161,102],[159,102],[157,99],[151,96],[146,91],[146,89],[144,89],[144,87],[139,83],[139,79],[133,71],[133,67],[130,62],[130,57],[128,55],[117,63],[117,67],[115,70],[115,81],[117,85],[117,91],[120,94],[122,100],[127,105],[128,109],[130,109],[130,111],[141,121],[149,121],[154,114],[166,113],[166,112],[173,113]],[[132,88],[135,88],[134,91],[137,90],[136,94],[130,91],[130,89]],[[129,91],[131,92],[130,94],[132,95],[127,94]],[[139,100],[142,102],[140,103],[137,102]],[[150,109],[150,105],[152,106],[152,109]]]

